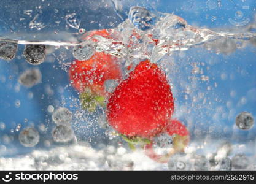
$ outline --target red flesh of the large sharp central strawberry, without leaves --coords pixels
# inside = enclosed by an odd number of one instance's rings
[[[165,73],[146,60],[112,93],[107,120],[125,136],[149,138],[165,131],[173,110],[173,95]]]

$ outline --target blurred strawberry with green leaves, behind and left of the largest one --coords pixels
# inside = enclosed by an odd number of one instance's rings
[[[99,35],[111,38],[107,30],[90,31],[83,39],[93,39]],[[118,58],[104,52],[95,52],[90,59],[85,61],[75,60],[69,68],[71,84],[80,93],[83,109],[94,112],[97,105],[104,106],[109,93],[105,88],[107,80],[120,81],[122,72]]]

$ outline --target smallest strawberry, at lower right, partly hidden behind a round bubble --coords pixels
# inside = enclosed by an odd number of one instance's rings
[[[166,163],[177,152],[184,151],[190,141],[189,132],[185,125],[178,120],[171,120],[166,128],[169,136],[173,136],[173,148],[166,155],[158,155],[153,150],[153,142],[144,145],[144,151],[149,158],[160,163]]]

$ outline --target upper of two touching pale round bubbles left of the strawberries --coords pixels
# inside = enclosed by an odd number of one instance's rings
[[[52,107],[50,107],[52,109]],[[59,107],[52,113],[52,120],[57,125],[68,124],[72,120],[72,112],[64,107]]]

